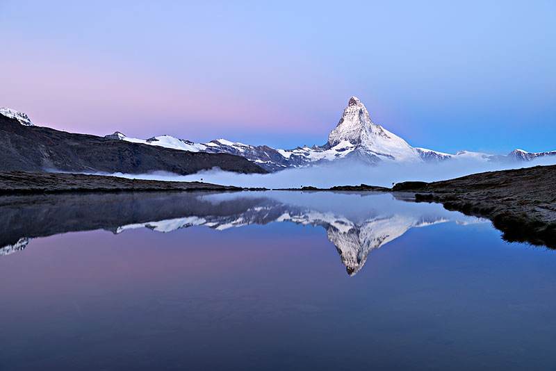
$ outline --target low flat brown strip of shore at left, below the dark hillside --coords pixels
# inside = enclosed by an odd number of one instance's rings
[[[185,181],[147,181],[117,176],[0,172],[0,195],[60,192],[121,192],[167,190],[241,190],[238,187]]]

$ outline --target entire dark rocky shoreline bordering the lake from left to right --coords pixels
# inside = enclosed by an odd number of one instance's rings
[[[61,192],[263,191],[202,182],[149,181],[64,173],[0,172],[0,195]],[[392,192],[407,201],[438,202],[452,211],[485,217],[510,242],[556,249],[556,165],[471,174],[447,181],[407,181],[393,188],[335,186],[285,188],[304,192]]]

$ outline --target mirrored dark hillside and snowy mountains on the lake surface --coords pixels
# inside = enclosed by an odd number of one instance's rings
[[[260,195],[240,193],[224,199],[214,199],[206,193],[8,197],[0,204],[0,227],[4,227],[0,240],[0,246],[4,247],[0,248],[0,255],[24,249],[29,238],[68,231],[107,229],[117,234],[149,228],[167,233],[190,226],[223,231],[250,224],[293,222],[322,226],[340,254],[347,273],[353,275],[365,265],[372,250],[413,227],[449,220],[447,212],[431,215],[429,211],[423,215],[424,211],[418,212],[422,209],[415,206],[411,212],[402,209],[385,213],[369,208],[368,211],[363,209],[360,217],[347,217],[337,213],[334,207],[326,206],[329,204],[326,197],[337,197],[332,194],[323,196],[325,211],[279,201],[272,197],[272,192],[263,194],[265,197]]]

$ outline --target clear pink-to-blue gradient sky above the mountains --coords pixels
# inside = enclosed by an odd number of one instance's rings
[[[417,147],[556,149],[555,19],[556,1],[0,0],[0,106],[296,147],[353,94]]]

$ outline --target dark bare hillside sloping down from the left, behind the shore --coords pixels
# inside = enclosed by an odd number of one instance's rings
[[[123,172],[163,171],[193,174],[220,167],[240,173],[265,173],[231,154],[208,154],[149,146],[96,135],[24,126],[0,115],[0,171]]]

